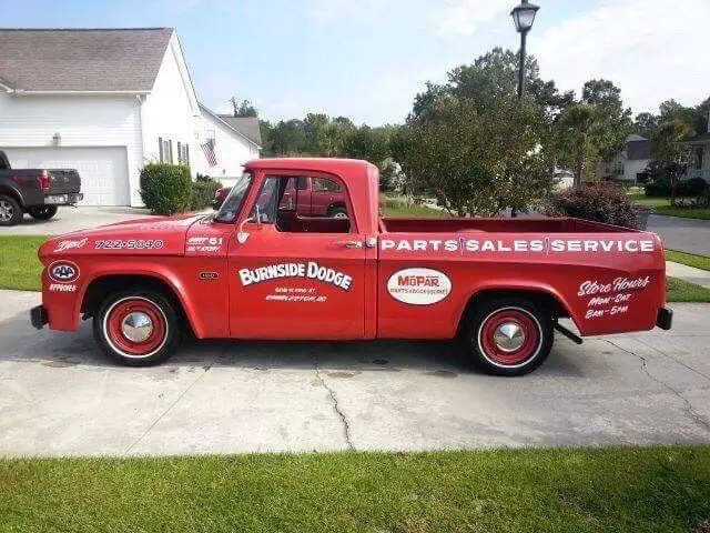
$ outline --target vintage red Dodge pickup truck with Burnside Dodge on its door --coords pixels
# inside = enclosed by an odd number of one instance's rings
[[[283,197],[333,182],[346,218],[306,217]],[[517,375],[558,332],[670,329],[658,235],[577,219],[388,219],[365,161],[247,163],[212,215],[148,218],[42,244],[37,328],[77,331],[130,365],[197,339],[454,339],[484,370]]]

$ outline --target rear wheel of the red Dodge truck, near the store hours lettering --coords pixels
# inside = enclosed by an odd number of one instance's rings
[[[545,362],[555,340],[554,322],[529,300],[501,298],[477,308],[466,343],[476,364],[496,375],[523,375]]]

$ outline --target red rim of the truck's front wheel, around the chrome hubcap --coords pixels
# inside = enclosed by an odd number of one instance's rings
[[[139,341],[126,336],[124,324],[132,318],[148,319],[150,329],[144,339]],[[104,319],[104,333],[113,348],[126,356],[148,356],[159,350],[165,342],[168,321],[163,311],[150,300],[126,298],[120,300],[109,310]]]

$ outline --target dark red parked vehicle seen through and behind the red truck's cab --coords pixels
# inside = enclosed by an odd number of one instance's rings
[[[220,189],[214,195],[212,207],[219,210],[232,190],[231,187]],[[313,177],[294,177],[286,183],[280,209],[291,210],[296,207],[303,217],[347,218],[345,193],[333,180]]]

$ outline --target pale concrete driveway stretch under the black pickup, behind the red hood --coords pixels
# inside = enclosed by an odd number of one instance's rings
[[[0,235],[59,235],[148,215],[150,212],[146,209],[139,208],[60,207],[59,212],[50,220],[36,220],[26,214],[20,224],[0,228]]]

